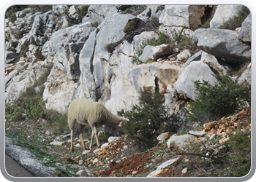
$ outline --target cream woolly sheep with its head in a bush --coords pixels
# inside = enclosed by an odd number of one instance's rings
[[[87,100],[85,98],[77,98],[72,100],[69,104],[68,108],[68,124],[69,129],[71,130],[71,151],[74,151],[73,148],[73,135],[74,135],[74,127],[75,122],[80,124],[80,133],[79,138],[82,144],[83,149],[86,149],[86,146],[83,142],[83,131],[86,128],[86,125],[89,125],[92,129],[91,132],[91,144],[89,149],[91,150],[92,141],[94,139],[94,135],[97,140],[97,146],[99,147],[99,138],[97,135],[97,127],[101,127],[103,124],[116,127],[117,130],[122,132],[122,125],[126,122],[126,119],[118,117],[108,111],[105,106],[101,103],[94,102],[92,100]]]

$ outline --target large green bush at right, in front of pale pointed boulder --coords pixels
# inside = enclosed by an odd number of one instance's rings
[[[185,109],[188,119],[192,122],[211,122],[223,116],[234,114],[238,108],[239,100],[250,102],[250,92],[234,82],[228,75],[214,75],[217,82],[214,86],[208,81],[195,81],[195,93],[197,99],[190,103],[189,109]]]

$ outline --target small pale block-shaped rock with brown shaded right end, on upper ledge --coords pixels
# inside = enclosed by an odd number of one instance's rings
[[[146,62],[150,59],[157,60],[171,54],[172,47],[170,47],[170,44],[162,44],[160,46],[147,45],[143,50],[143,54],[140,55],[139,60],[142,62]]]

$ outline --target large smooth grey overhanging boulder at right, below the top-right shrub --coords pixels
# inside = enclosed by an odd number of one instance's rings
[[[224,58],[226,63],[238,64],[251,60],[251,47],[236,39],[236,31],[200,28],[192,42],[200,50]]]

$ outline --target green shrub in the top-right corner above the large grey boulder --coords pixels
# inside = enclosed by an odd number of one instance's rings
[[[241,27],[244,19],[250,14],[250,11],[247,7],[242,7],[241,10],[238,12],[237,16],[230,18],[227,22],[220,25],[220,29],[229,29],[235,31],[236,28]]]

